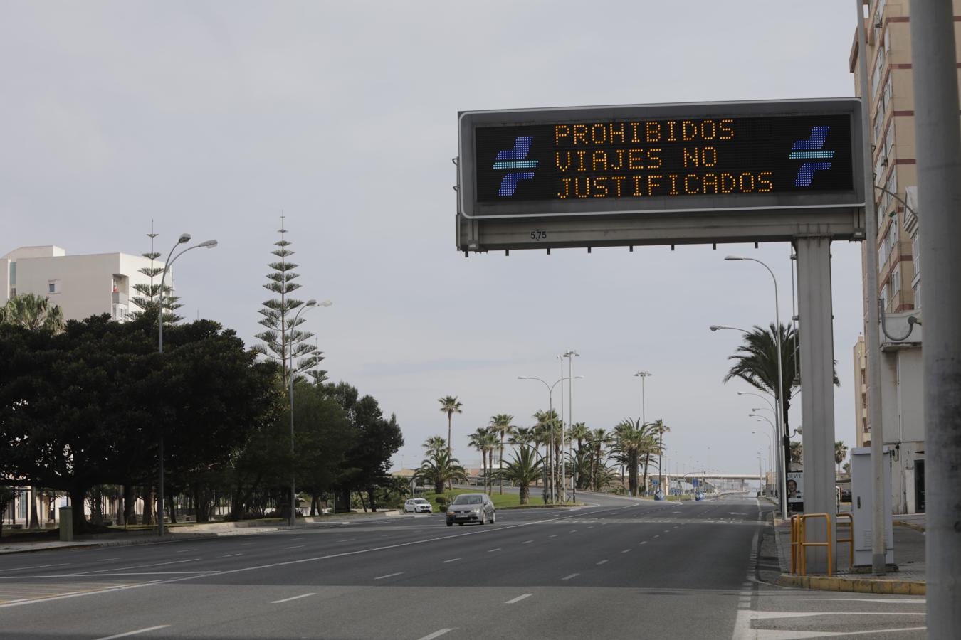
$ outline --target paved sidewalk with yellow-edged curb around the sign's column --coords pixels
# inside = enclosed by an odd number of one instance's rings
[[[791,523],[779,522],[775,527],[777,557],[782,586],[800,586],[826,591],[854,591],[858,593],[894,593],[924,595],[927,570],[924,563],[924,514],[896,515],[895,564],[897,571],[883,576],[852,570],[849,565],[847,543],[838,545],[838,572],[831,576],[796,576],[791,571]],[[842,530],[846,535],[847,529]]]

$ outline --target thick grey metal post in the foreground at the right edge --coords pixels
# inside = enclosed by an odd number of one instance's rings
[[[951,3],[913,0],[927,440],[927,633],[961,628],[961,131]],[[874,442],[872,442],[874,443]]]

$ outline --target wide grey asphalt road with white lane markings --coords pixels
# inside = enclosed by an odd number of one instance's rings
[[[923,599],[759,580],[753,498],[579,498],[596,505],[0,557],[0,637],[924,637]]]

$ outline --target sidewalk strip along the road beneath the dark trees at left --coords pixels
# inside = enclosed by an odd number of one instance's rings
[[[297,519],[297,526],[286,524],[267,524],[259,521],[241,522],[210,522],[191,526],[170,527],[163,537],[155,531],[141,531],[128,533],[101,533],[97,535],[78,535],[71,542],[61,540],[42,540],[17,542],[16,536],[0,539],[0,555],[26,554],[37,551],[63,549],[99,549],[102,547],[126,547],[133,544],[161,544],[179,542],[182,540],[207,540],[227,535],[251,535],[254,533],[276,533],[292,531],[294,529],[317,529],[324,527],[342,527],[353,521],[376,519],[383,517],[403,517],[397,510],[375,512],[336,513],[331,515],[302,517]],[[412,515],[410,516],[412,517]]]

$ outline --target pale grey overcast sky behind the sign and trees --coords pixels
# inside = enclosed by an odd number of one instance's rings
[[[514,251],[455,246],[456,112],[852,95],[848,2],[12,2],[0,4],[0,253],[166,251],[187,319],[248,344],[269,296],[280,212],[333,380],[395,413],[395,465],[491,415],[530,426],[557,354],[577,349],[573,416],[671,427],[673,469],[751,472],[763,402],[722,384],[734,331],[791,316],[790,249],[772,244]],[[833,246],[837,439],[854,440],[860,248]],[[556,391],[555,391],[556,395]],[[749,396],[750,397],[750,396]],[[556,402],[556,401],[555,401]],[[792,411],[801,420],[800,402]]]

